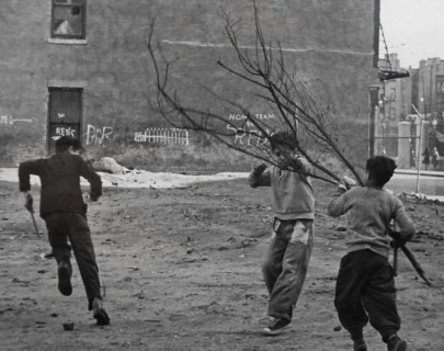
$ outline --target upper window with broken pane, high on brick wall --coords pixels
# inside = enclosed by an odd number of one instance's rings
[[[87,0],[53,0],[52,37],[86,38]]]

